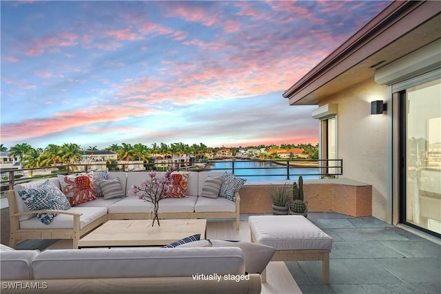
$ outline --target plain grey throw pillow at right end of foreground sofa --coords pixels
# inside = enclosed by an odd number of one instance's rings
[[[210,240],[213,247],[239,247],[245,259],[247,273],[262,273],[276,249],[271,246],[243,241]]]

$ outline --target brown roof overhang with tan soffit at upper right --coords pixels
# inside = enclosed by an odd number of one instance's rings
[[[290,105],[319,105],[372,78],[375,71],[441,38],[438,1],[393,1],[283,96]]]

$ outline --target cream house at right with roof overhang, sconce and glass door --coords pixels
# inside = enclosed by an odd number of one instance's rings
[[[441,237],[439,1],[391,2],[283,96],[318,105],[320,159],[372,185],[373,216]]]

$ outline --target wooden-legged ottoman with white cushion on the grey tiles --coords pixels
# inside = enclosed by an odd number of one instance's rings
[[[276,249],[272,261],[322,261],[322,280],[329,284],[332,238],[304,216],[249,216],[252,242]],[[262,282],[266,272],[262,273]]]

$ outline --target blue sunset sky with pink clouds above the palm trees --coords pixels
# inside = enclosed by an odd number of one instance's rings
[[[1,1],[0,143],[318,143],[282,94],[390,1]]]

